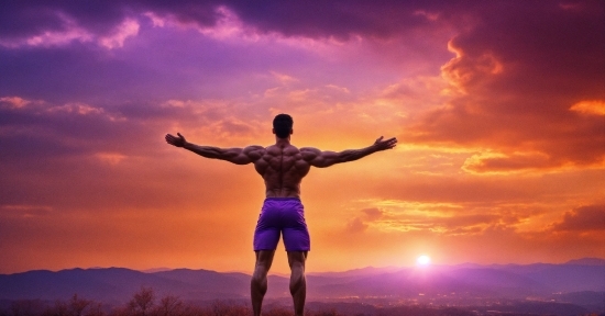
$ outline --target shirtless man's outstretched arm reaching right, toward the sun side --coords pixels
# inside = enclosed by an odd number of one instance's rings
[[[361,148],[361,149],[348,149],[340,153],[336,151],[321,151],[317,148],[300,148],[300,154],[302,154],[302,159],[307,160],[311,166],[326,168],[334,163],[342,163],[348,161],[358,160],[367,155],[374,154],[376,151],[382,151],[386,149],[392,149],[397,145],[397,138],[388,138],[383,140],[381,136],[372,146]]]

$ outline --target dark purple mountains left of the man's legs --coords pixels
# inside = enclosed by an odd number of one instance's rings
[[[245,281],[244,281],[245,280]],[[245,274],[207,270],[173,270],[155,273],[108,268],[70,269],[58,272],[29,271],[0,274],[0,300],[66,300],[74,294],[108,304],[123,304],[142,286],[153,287],[158,296],[183,300],[233,300],[248,295]]]

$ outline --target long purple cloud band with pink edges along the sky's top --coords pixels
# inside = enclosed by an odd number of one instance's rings
[[[472,7],[472,5],[471,5]],[[385,8],[388,8],[386,10]],[[116,1],[111,3],[8,3],[0,14],[0,43],[28,43],[37,38],[46,45],[100,38],[108,48],[121,47],[124,36],[136,34],[132,22],[146,16],[153,26],[194,27],[219,40],[279,34],[282,37],[328,40],[342,43],[359,36],[388,41],[418,29],[455,25],[461,5],[384,1],[330,1],[317,3],[245,1]],[[338,16],[334,19],[334,16]],[[402,19],[404,16],[404,19]],[[119,32],[116,32],[119,30]],[[120,35],[121,34],[121,35]],[[108,37],[109,36],[109,37]],[[6,46],[11,46],[7,45]],[[30,44],[31,45],[31,44]]]

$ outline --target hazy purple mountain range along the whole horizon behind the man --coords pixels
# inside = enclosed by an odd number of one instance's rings
[[[267,298],[289,295],[287,278],[271,275],[268,284]],[[460,264],[422,269],[369,267],[309,273],[307,284],[309,301],[559,297],[560,301],[587,300],[583,301],[584,305],[602,305],[605,260],[585,258],[562,264]],[[37,270],[0,274],[0,300],[67,300],[77,293],[87,300],[117,305],[128,302],[142,286],[153,287],[158,297],[249,300],[250,275],[189,269],[158,269],[156,272],[123,268]]]

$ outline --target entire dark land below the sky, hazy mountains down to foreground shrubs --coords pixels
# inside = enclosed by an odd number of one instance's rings
[[[288,315],[285,312],[292,305],[288,279],[278,275],[268,279],[265,311]],[[131,315],[128,311],[136,309],[141,297],[151,300],[147,304],[155,306],[156,314],[164,306],[162,315],[242,315],[250,305],[249,289],[250,275],[238,272],[36,270],[0,274],[0,316],[57,314],[61,306],[74,314],[74,307],[68,306],[78,302],[88,303],[85,304],[88,312],[82,309],[78,315]],[[605,315],[605,260],[588,258],[562,264],[526,266],[370,267],[309,273],[307,292],[308,311],[316,313],[310,315]],[[180,309],[169,309],[166,304]],[[191,312],[191,306],[197,306],[197,312]],[[231,308],[232,313],[220,312],[221,308]],[[134,314],[153,314],[150,311]],[[72,315],[67,312],[63,315]]]

